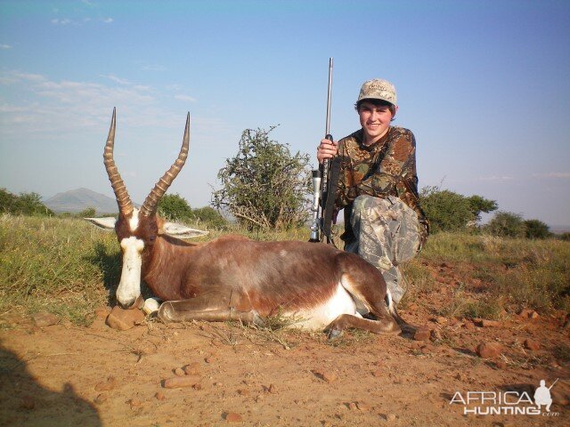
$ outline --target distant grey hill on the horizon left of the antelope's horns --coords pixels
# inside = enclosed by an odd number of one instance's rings
[[[77,214],[88,207],[94,207],[98,215],[118,213],[117,201],[114,198],[96,193],[91,189],[70,189],[64,193],[58,193],[45,200],[44,205],[57,214],[64,212]]]

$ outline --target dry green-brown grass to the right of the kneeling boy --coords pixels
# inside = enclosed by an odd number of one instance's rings
[[[458,296],[465,315],[496,318],[499,311],[531,308],[539,312],[570,311],[570,245],[557,239],[530,240],[487,235],[439,233],[428,239],[419,262],[452,262],[471,270],[464,281],[479,279],[487,284],[486,301],[466,301]],[[407,270],[406,270],[407,271]],[[417,275],[418,273],[412,273]],[[422,281],[415,281],[421,285]],[[475,316],[478,314],[478,316]]]

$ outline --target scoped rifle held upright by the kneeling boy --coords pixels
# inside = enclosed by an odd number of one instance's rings
[[[332,58],[329,59],[329,89],[327,93],[327,121],[325,125],[325,138],[333,141],[330,134],[330,93],[332,88]],[[326,159],[313,171],[313,223],[311,225],[310,242],[322,242],[334,245],[332,241],[332,221],[340,161],[338,157]]]

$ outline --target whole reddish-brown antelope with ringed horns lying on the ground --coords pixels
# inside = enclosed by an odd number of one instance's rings
[[[330,337],[346,327],[376,334],[401,332],[384,278],[355,254],[299,241],[258,242],[226,236],[196,245],[173,237],[199,233],[157,215],[160,198],[188,156],[190,114],[178,158],[140,209],[131,202],[113,159],[115,125],[113,110],[103,157],[117,198],[118,219],[89,221],[117,233],[122,271],[116,296],[123,308],[131,308],[140,298],[143,279],[163,301],[158,316],[165,322],[240,319],[260,323],[266,316],[279,314],[298,319],[294,326],[325,330]]]

